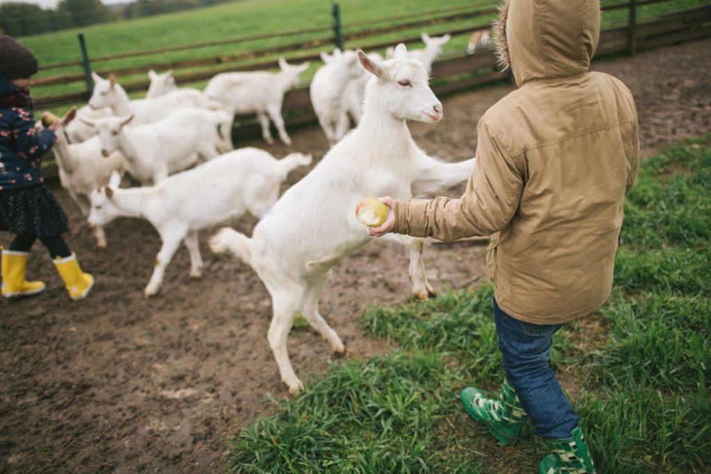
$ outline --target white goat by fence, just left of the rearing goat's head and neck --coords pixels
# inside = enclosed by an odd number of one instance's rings
[[[350,125],[344,94],[351,80],[362,74],[355,51],[338,48],[333,55],[321,54],[324,65],[316,71],[309,86],[311,105],[314,107],[319,124],[324,129],[328,145],[333,146],[343,138]]]

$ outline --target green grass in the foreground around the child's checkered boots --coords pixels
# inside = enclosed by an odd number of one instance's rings
[[[629,193],[614,291],[555,335],[552,365],[582,419],[599,472],[711,468],[711,135],[641,164]],[[490,285],[371,308],[365,335],[397,345],[334,363],[294,399],[274,401],[232,444],[239,473],[534,472],[530,428],[497,444],[459,405],[503,377]]]

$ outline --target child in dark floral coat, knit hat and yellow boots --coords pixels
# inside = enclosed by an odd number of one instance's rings
[[[30,77],[37,59],[10,36],[0,36],[0,231],[14,235],[2,250],[2,295],[31,296],[45,289],[26,281],[25,266],[36,239],[47,247],[69,296],[84,298],[94,284],[61,237],[68,232],[67,215],[42,180],[42,157],[52,148],[53,123],[38,129],[33,118]],[[0,247],[1,248],[1,247]]]

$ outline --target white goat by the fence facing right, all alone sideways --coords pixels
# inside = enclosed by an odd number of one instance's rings
[[[284,94],[299,85],[299,76],[309,68],[309,62],[296,66],[279,58],[279,68],[279,72],[223,72],[210,79],[203,93],[222,104],[232,115],[257,114],[262,136],[268,144],[274,143],[269,131],[269,119],[272,119],[279,131],[279,139],[291,145],[292,139],[282,119],[282,103]]]

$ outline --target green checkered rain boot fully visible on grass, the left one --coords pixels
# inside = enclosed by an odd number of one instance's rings
[[[464,389],[460,399],[466,412],[476,421],[485,424],[493,437],[504,444],[515,443],[523,425],[528,421],[528,415],[523,411],[516,392],[506,381],[501,386],[498,400],[484,397],[474,387]]]

